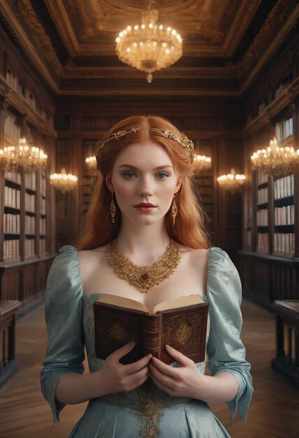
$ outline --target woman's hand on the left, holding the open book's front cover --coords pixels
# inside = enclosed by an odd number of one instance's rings
[[[105,364],[99,370],[101,385],[106,394],[128,392],[142,385],[149,376],[148,362],[152,355],[148,354],[129,365],[122,365],[119,360],[131,350],[135,343],[129,343],[118,348],[105,360]]]

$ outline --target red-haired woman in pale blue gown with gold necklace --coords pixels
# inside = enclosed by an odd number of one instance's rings
[[[241,285],[228,255],[209,248],[192,190],[193,143],[162,118],[136,116],[110,129],[96,157],[100,175],[79,251],[61,248],[48,276],[41,386],[54,422],[64,404],[90,400],[70,437],[228,437],[207,403],[228,402],[231,418],[238,408],[247,414],[252,386],[240,340]],[[149,309],[182,295],[207,300],[212,375],[205,362],[168,346],[172,365],[152,355],[122,365],[131,343],[97,359],[93,303],[101,293]]]

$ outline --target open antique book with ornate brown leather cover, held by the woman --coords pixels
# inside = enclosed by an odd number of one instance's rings
[[[170,364],[166,351],[173,346],[194,362],[205,360],[208,304],[199,295],[188,295],[157,304],[152,313],[140,302],[103,294],[94,302],[96,358],[135,341],[133,350],[120,362],[128,364],[147,353]]]

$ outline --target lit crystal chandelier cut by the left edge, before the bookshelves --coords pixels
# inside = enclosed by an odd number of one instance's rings
[[[7,146],[0,149],[0,167],[5,170],[23,172],[45,169],[47,158],[42,149],[29,146],[22,137],[17,146]]]

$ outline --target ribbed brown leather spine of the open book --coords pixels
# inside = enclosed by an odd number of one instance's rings
[[[161,313],[149,315],[145,313],[144,353],[152,353],[158,358],[161,348]]]

